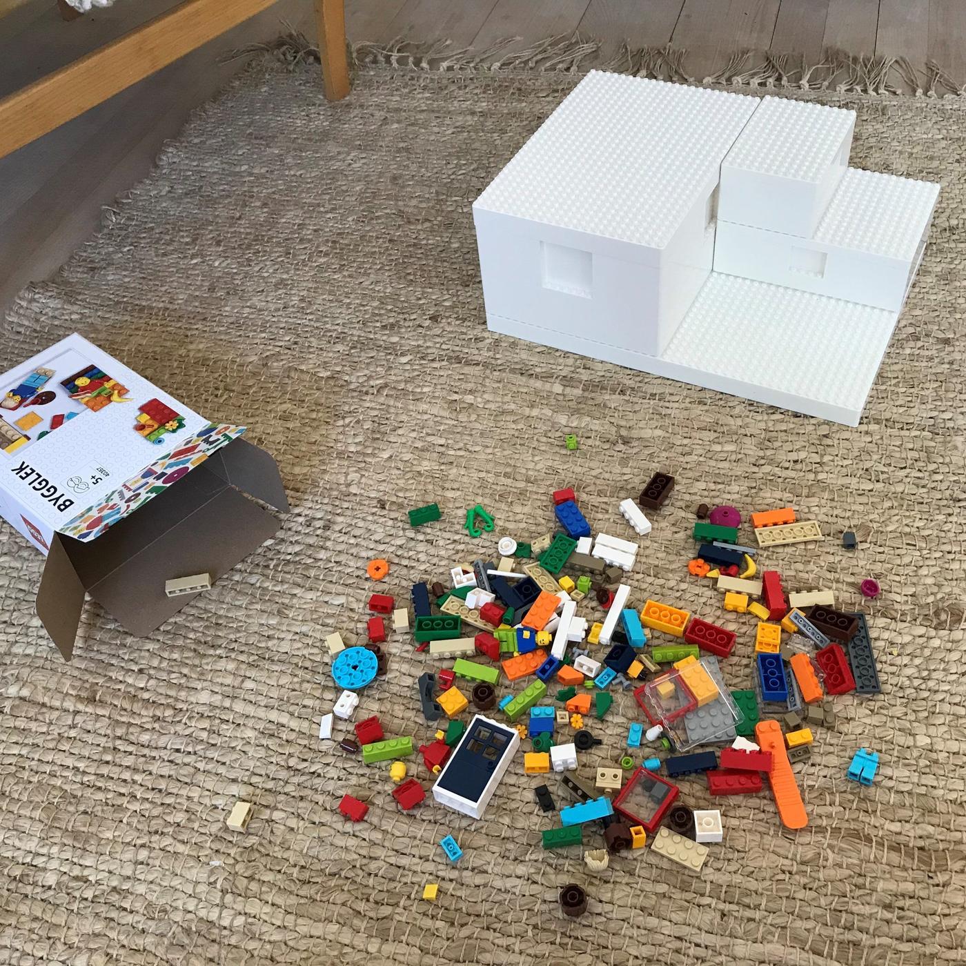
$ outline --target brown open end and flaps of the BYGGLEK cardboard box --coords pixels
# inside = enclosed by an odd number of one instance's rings
[[[37,613],[64,658],[73,654],[85,594],[142,637],[196,596],[168,597],[165,581],[211,574],[215,582],[265,543],[278,521],[240,491],[289,508],[270,454],[237,439],[96,540],[54,534]]]

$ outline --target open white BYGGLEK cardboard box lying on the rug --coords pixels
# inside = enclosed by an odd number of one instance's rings
[[[281,477],[243,432],[77,334],[0,376],[0,515],[46,554],[37,613],[65,658],[85,594],[150,634],[194,598],[166,580],[214,582],[275,532],[242,492],[286,511]]]

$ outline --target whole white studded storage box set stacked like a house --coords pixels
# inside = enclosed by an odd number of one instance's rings
[[[488,326],[857,425],[938,185],[848,168],[854,127],[591,71],[473,204]]]

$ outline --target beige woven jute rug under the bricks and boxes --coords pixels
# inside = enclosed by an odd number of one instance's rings
[[[364,68],[327,104],[316,69],[259,63],[200,111],[155,174],[55,280],[24,292],[3,366],[78,330],[276,456],[278,538],[151,639],[91,607],[71,665],[32,613],[42,560],[0,527],[0,960],[10,963],[951,963],[966,959],[962,342],[964,99],[802,93],[859,112],[853,163],[942,182],[909,303],[857,429],[491,336],[470,203],[577,82],[572,72]],[[576,432],[581,448],[564,449]],[[798,779],[810,825],[759,796],[712,801],[725,841],[699,875],[649,852],[588,873],[548,853],[539,783],[518,759],[483,821],[396,809],[386,766],[318,740],[335,696],[323,639],[364,635],[373,589],[494,554],[461,529],[551,528],[576,487],[595,528],[656,469],[677,488],[631,577],[740,631],[723,667],[750,684],[753,621],[689,578],[698,502],[785,504],[827,539],[768,556],[789,589],[867,611],[885,694],[835,699]],[[440,503],[413,530],[406,511]],[[838,535],[857,528],[858,552]],[[389,578],[365,577],[386,556]],[[883,584],[865,604],[856,585]],[[432,737],[390,635],[356,719]],[[613,761],[637,720],[618,693]],[[345,734],[346,729],[339,734]],[[871,788],[852,754],[881,755]],[[411,775],[428,788],[421,761]],[[567,799],[551,786],[557,805]],[[336,811],[368,800],[357,825]],[[246,834],[225,828],[254,803]],[[464,858],[437,842],[458,838]],[[591,844],[596,844],[591,838]],[[420,898],[440,884],[435,904]],[[582,884],[577,921],[557,892]]]

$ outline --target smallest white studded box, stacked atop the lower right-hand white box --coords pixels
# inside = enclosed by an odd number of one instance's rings
[[[722,162],[719,220],[811,238],[848,165],[855,117],[763,99]]]

